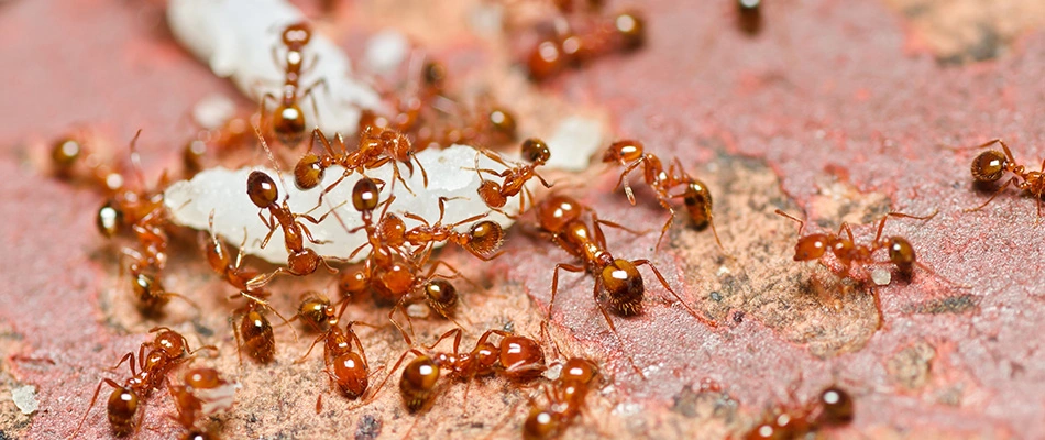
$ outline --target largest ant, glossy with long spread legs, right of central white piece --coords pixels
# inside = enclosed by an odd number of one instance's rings
[[[588,226],[581,220],[583,211],[591,213],[592,228],[588,228]],[[605,295],[609,302],[609,308],[617,315],[635,316],[640,314],[646,287],[642,282],[642,275],[639,274],[637,266],[647,265],[653,271],[653,274],[657,275],[657,279],[660,280],[660,284],[671,293],[691,316],[708,327],[717,327],[714,321],[697,315],[695,310],[690,308],[690,306],[682,300],[682,297],[668,285],[668,280],[664,279],[664,276],[661,275],[657,266],[650,263],[649,260],[628,261],[615,258],[613,254],[609,253],[606,249],[606,239],[603,235],[601,224],[627,230],[626,228],[610,221],[598,219],[598,216],[591,208],[581,205],[570,197],[561,195],[544,199],[541,205],[538,206],[537,218],[540,229],[550,234],[552,241],[584,263],[584,265],[556,264],[556,271],[551,280],[551,299],[548,302],[549,320],[552,316],[556,295],[559,292],[559,271],[588,272],[595,278],[593,289],[595,304],[598,306],[598,310],[603,314],[603,317],[606,318],[606,323],[609,324],[609,329],[619,340],[620,334],[617,333],[617,328],[614,326],[609,312],[606,311],[600,297]],[[635,370],[638,371],[640,375],[642,374],[634,362],[632,366],[635,366]]]

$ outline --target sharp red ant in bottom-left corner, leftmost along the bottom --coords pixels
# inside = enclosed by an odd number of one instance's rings
[[[200,350],[218,351],[218,348],[213,345],[189,351],[188,341],[185,337],[166,327],[156,327],[148,332],[156,333],[156,337],[153,341],[142,343],[139,348],[138,371],[135,371],[134,352],[127,353],[120,359],[120,362],[109,369],[119,369],[124,362],[130,361],[131,377],[124,381],[123,385],[110,378],[101,380],[98,386],[95,387],[95,394],[90,398],[87,411],[84,413],[84,418],[80,419],[76,430],[69,436],[70,438],[76,437],[76,433],[84,426],[84,421],[87,420],[90,408],[95,406],[98,393],[101,392],[103,384],[113,388],[106,407],[109,415],[109,426],[117,436],[125,436],[133,432],[145,416],[144,410],[141,413],[138,410],[141,399],[148,397],[153,389],[160,388],[166,382],[167,373],[188,361]],[[147,354],[146,349],[148,350]],[[138,415],[138,420],[135,420],[135,415]]]

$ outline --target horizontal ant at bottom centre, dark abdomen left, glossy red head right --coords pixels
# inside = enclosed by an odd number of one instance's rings
[[[488,342],[492,334],[499,336],[501,343]],[[453,336],[453,350],[450,353],[432,352],[443,340]],[[531,381],[541,375],[544,366],[544,352],[537,341],[501,330],[487,330],[475,342],[471,352],[461,353],[461,329],[452,329],[431,345],[425,346],[428,354],[410,349],[403,353],[392,372],[399,369],[407,354],[414,353],[410,363],[403,369],[399,378],[399,393],[410,413],[417,413],[435,396],[436,385],[440,377],[440,369],[449,371],[450,376],[471,381],[476,376],[499,373],[507,380],[516,383]],[[407,344],[414,346],[410,338],[403,333]],[[391,375],[391,373],[389,373]],[[387,381],[387,376],[385,381]],[[384,386],[384,381],[377,389]]]

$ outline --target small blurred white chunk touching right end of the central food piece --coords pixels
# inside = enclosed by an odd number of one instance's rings
[[[592,155],[603,147],[606,130],[596,120],[583,117],[569,117],[559,123],[556,132],[544,140],[551,158],[546,164],[551,168],[572,172],[587,169]]]

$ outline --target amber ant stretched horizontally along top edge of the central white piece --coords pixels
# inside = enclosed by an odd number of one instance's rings
[[[362,172],[366,168],[376,168],[387,163],[393,164],[393,183],[395,183],[395,180],[402,182],[411,194],[414,191],[399,173],[399,162],[405,163],[411,174],[414,173],[414,165],[410,161],[416,163],[418,168],[421,169],[425,186],[428,186],[428,172],[425,170],[425,166],[421,165],[420,161],[414,154],[415,152],[410,140],[399,131],[374,125],[363,125],[363,130],[360,131],[359,148],[351,152],[348,151],[344,139],[339,133],[334,136],[334,141],[341,146],[340,153],[334,152],[330,140],[328,140],[327,135],[319,131],[319,129],[312,130],[314,144],[317,139],[323,145],[326,154],[317,155],[312,153],[310,145],[308,153],[301,156],[294,166],[294,185],[302,190],[315,188],[323,180],[327,168],[333,165],[344,167],[344,173],[341,177],[323,189],[320,195],[320,204],[322,204],[322,195],[330,193],[331,189],[352,173]],[[382,154],[387,155],[383,156]]]

